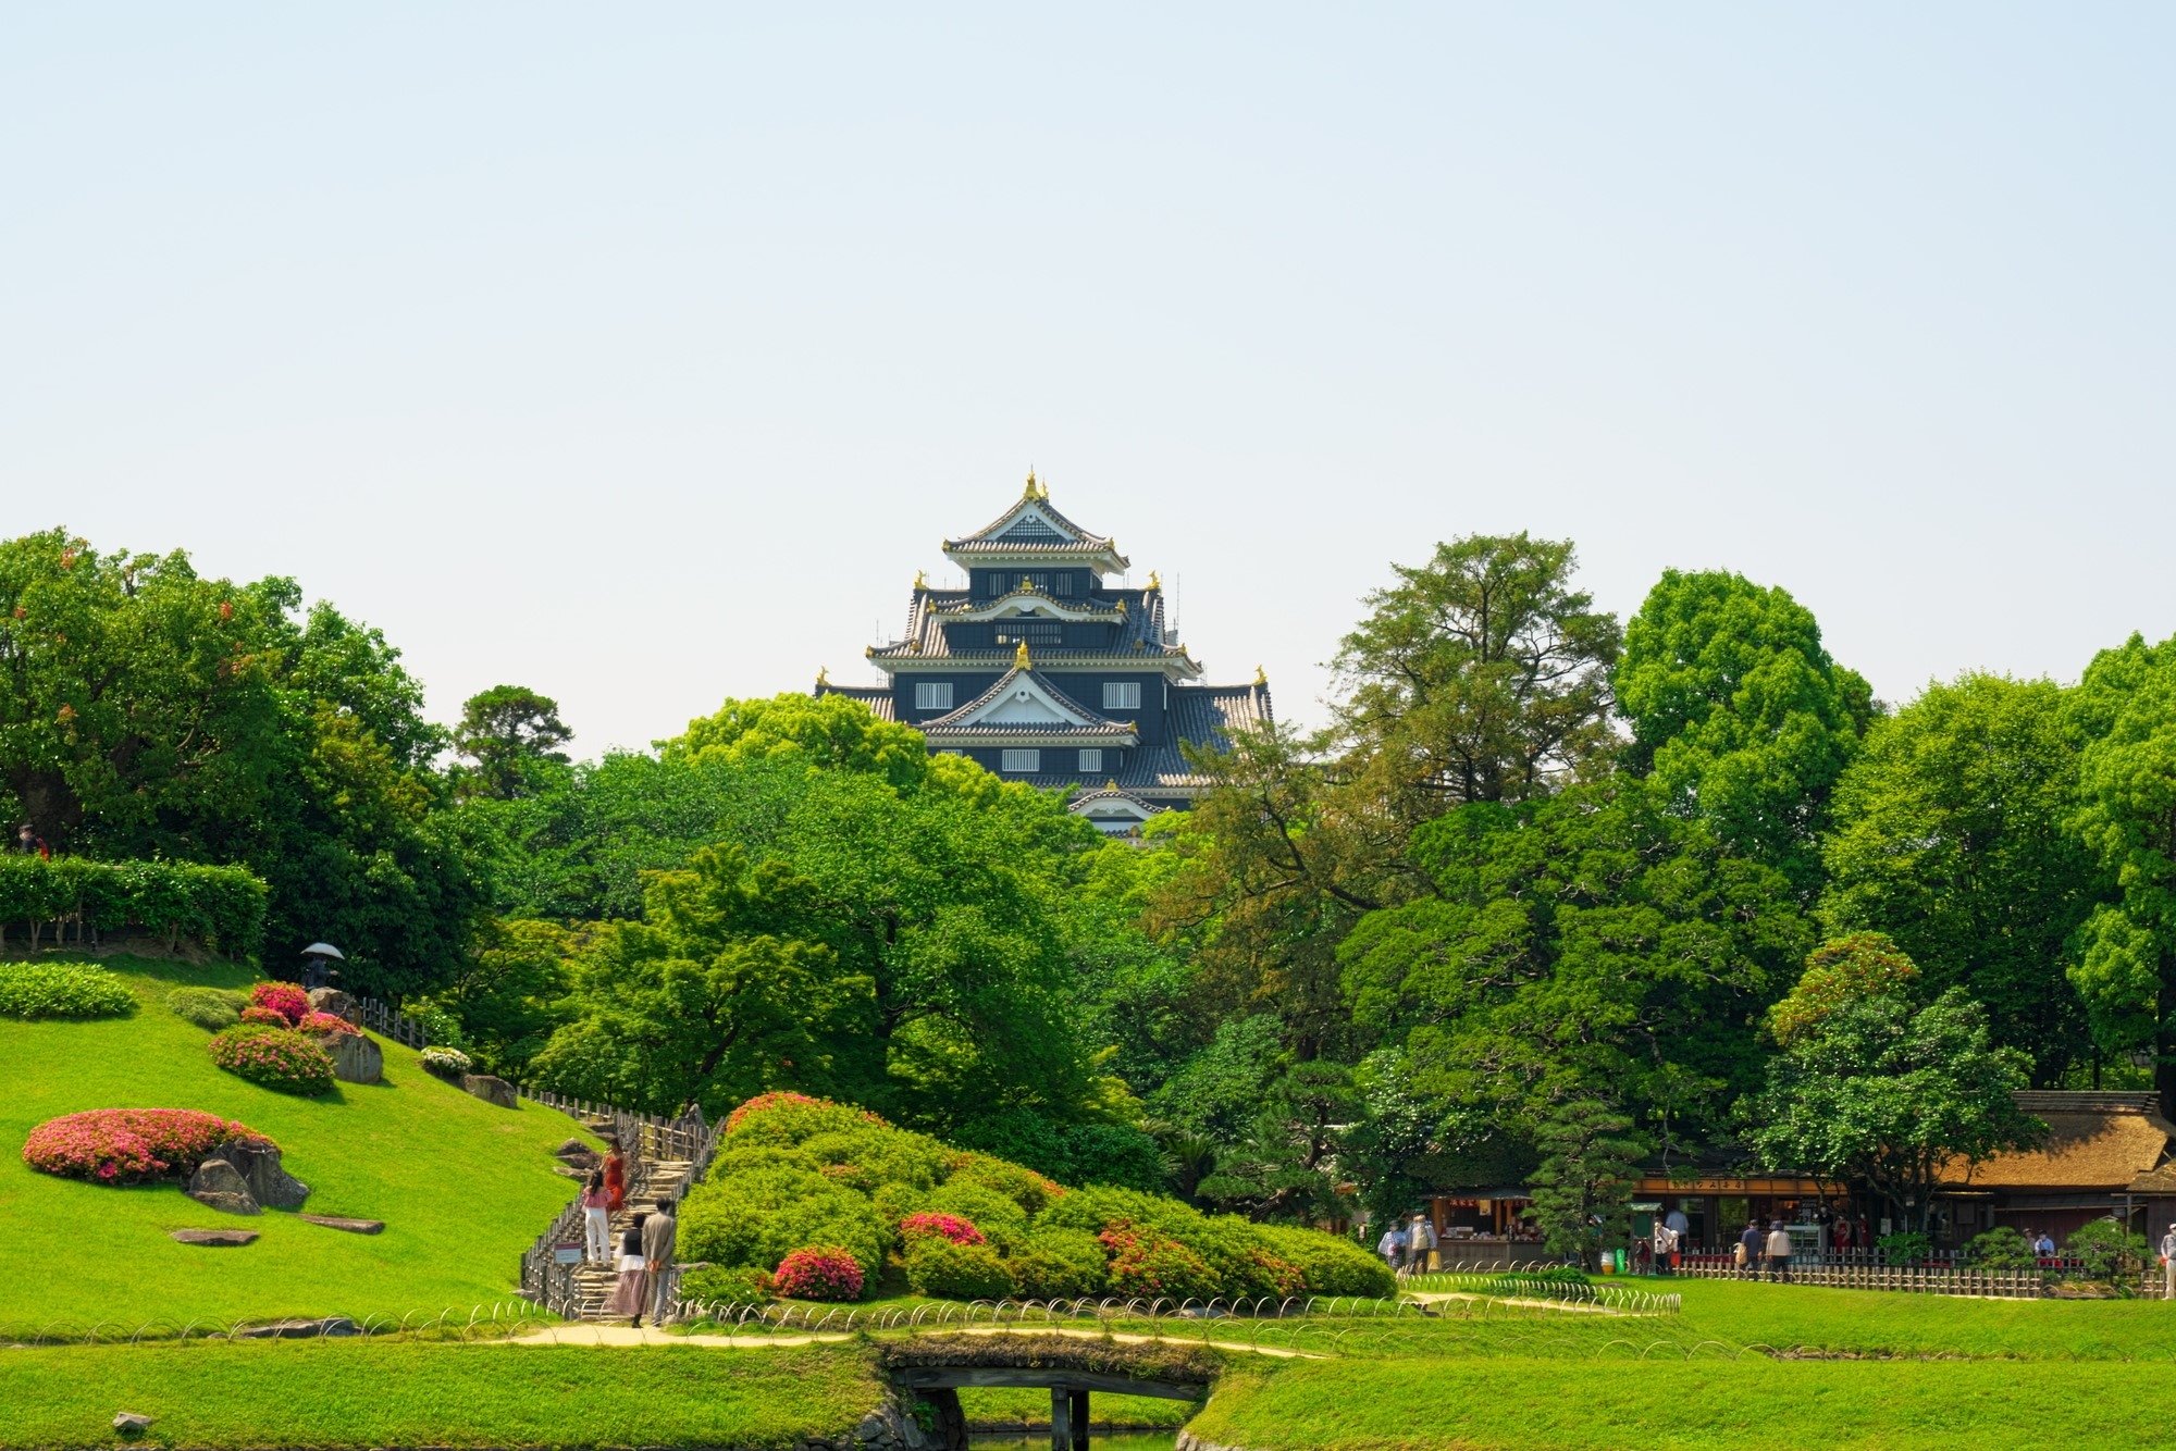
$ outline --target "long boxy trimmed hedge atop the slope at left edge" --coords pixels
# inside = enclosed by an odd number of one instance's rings
[[[191,938],[226,957],[255,957],[265,935],[265,883],[242,866],[0,857],[0,925],[131,927],[168,946]]]

